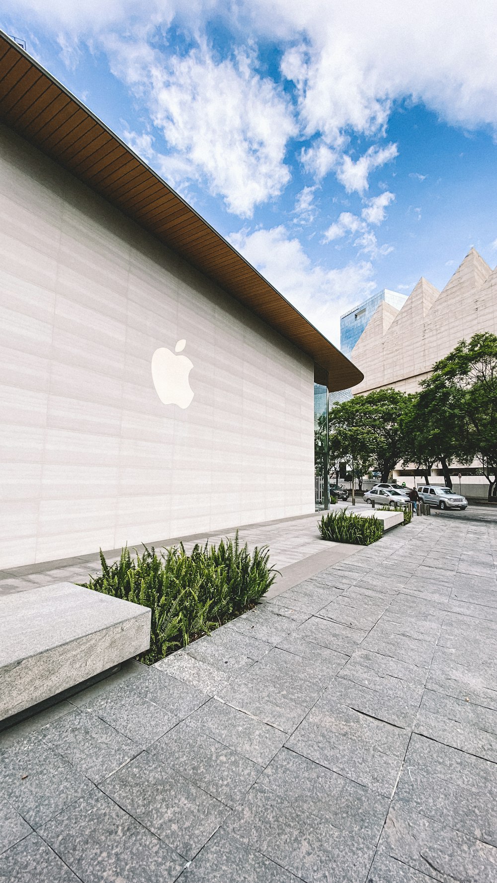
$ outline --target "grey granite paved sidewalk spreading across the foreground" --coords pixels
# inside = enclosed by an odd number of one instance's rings
[[[496,563],[414,519],[5,732],[0,879],[497,880]]]

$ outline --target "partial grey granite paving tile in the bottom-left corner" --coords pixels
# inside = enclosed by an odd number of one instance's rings
[[[38,834],[30,834],[0,856],[2,883],[79,883]]]

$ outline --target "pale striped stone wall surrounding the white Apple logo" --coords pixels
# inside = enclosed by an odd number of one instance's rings
[[[0,310],[0,570],[314,511],[311,359],[4,128]]]

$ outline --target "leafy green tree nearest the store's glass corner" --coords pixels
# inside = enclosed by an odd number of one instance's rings
[[[372,465],[387,481],[408,453],[402,417],[411,396],[398,389],[377,389],[335,404],[330,411],[330,446],[342,460],[361,462],[363,474]]]

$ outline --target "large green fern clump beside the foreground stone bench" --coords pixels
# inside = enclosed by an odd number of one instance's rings
[[[152,611],[150,648],[141,655],[148,665],[253,608],[278,573],[269,567],[268,548],[250,555],[238,532],[217,548],[197,544],[189,555],[180,543],[160,555],[145,548],[136,557],[126,547],[111,565],[101,550],[100,561],[102,574],[89,578],[88,589]]]

